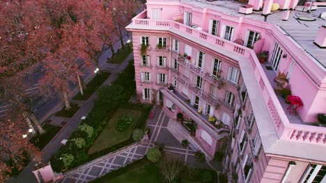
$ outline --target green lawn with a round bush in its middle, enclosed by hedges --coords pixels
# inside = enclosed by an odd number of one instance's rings
[[[124,132],[117,132],[114,128],[116,121],[121,119],[123,116],[132,116],[134,118],[134,122],[130,127]],[[88,155],[96,153],[100,150],[104,150],[111,146],[114,146],[118,143],[126,141],[130,139],[132,131],[134,130],[134,126],[137,124],[139,117],[141,116],[141,111],[139,110],[129,110],[125,108],[118,108],[114,115],[111,117],[109,123],[104,127],[98,139],[96,139],[93,146],[88,150]]]

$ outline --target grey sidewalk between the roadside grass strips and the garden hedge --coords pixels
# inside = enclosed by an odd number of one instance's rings
[[[128,57],[123,61],[114,71],[111,72],[111,75],[107,80],[102,83],[103,85],[109,85],[111,82],[114,82],[118,78],[118,73],[122,72],[125,67],[127,67],[128,61],[133,59],[133,53],[130,53]],[[70,134],[75,131],[81,122],[81,116],[87,116],[88,112],[91,111],[94,105],[95,98],[98,92],[95,92],[84,105],[79,108],[74,116],[68,121],[68,123],[61,128],[61,130],[56,134],[56,136],[50,141],[45,148],[42,150],[42,158],[44,162],[49,161],[49,159],[56,153],[57,150],[61,147],[62,139],[68,139]],[[32,173],[32,168],[35,162],[31,162],[20,175],[16,178],[15,182],[37,182],[36,178]]]

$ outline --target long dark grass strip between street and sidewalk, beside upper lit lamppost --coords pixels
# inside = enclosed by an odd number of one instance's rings
[[[109,78],[110,73],[108,72],[100,72],[96,74],[96,76],[88,82],[86,89],[84,89],[84,95],[81,95],[80,92],[72,98],[72,100],[76,101],[84,101],[87,100],[92,94],[102,85],[102,83]]]

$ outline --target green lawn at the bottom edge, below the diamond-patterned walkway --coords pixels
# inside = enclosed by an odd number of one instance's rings
[[[129,171],[111,180],[103,180],[105,183],[160,183],[162,182],[160,173],[155,164],[147,163],[132,171]]]

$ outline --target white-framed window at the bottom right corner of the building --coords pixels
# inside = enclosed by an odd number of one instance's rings
[[[306,168],[306,172],[304,173],[301,183],[323,183],[326,181],[326,166],[322,166],[319,164],[310,164],[308,168]]]

